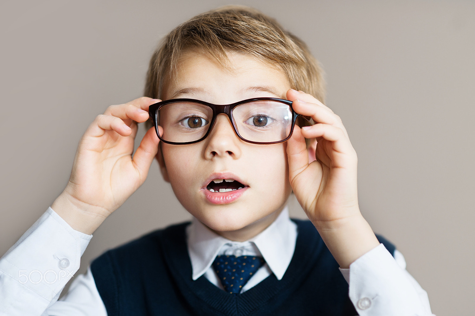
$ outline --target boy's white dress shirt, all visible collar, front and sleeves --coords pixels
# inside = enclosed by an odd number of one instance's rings
[[[232,242],[193,219],[186,229],[192,278],[204,275],[222,288],[211,264],[217,255],[256,255],[266,260],[241,292],[271,273],[282,279],[292,259],[297,226],[288,211],[247,242]],[[72,229],[51,208],[0,259],[0,316],[107,316],[90,268],[71,283],[92,235]],[[349,283],[349,297],[360,315],[433,315],[428,296],[405,270],[399,251],[394,258],[380,244],[340,269]]]

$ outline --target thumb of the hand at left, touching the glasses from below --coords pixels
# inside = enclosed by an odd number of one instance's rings
[[[160,135],[163,134],[163,129],[161,126],[158,127]],[[158,143],[160,139],[157,137],[155,128],[151,127],[143,136],[140,146],[135,151],[133,155],[133,164],[135,169],[139,171],[141,178],[147,176],[150,165],[152,165],[153,158],[158,152]]]

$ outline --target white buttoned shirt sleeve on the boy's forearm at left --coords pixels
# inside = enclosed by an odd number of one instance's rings
[[[41,315],[79,269],[91,238],[49,207],[0,259],[0,315]]]

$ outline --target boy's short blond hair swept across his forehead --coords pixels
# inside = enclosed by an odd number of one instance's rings
[[[228,65],[227,51],[255,57],[280,68],[293,89],[324,102],[323,71],[305,43],[275,19],[256,9],[235,5],[199,14],[163,39],[150,60],[145,96],[161,99],[166,78],[173,77],[180,56],[190,49],[204,50],[223,67]],[[303,122],[299,125],[306,125]],[[152,127],[150,120],[146,127]]]

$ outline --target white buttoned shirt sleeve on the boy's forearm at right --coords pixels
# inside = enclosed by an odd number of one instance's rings
[[[349,284],[349,297],[361,316],[431,315],[430,307],[381,243],[340,269]]]

